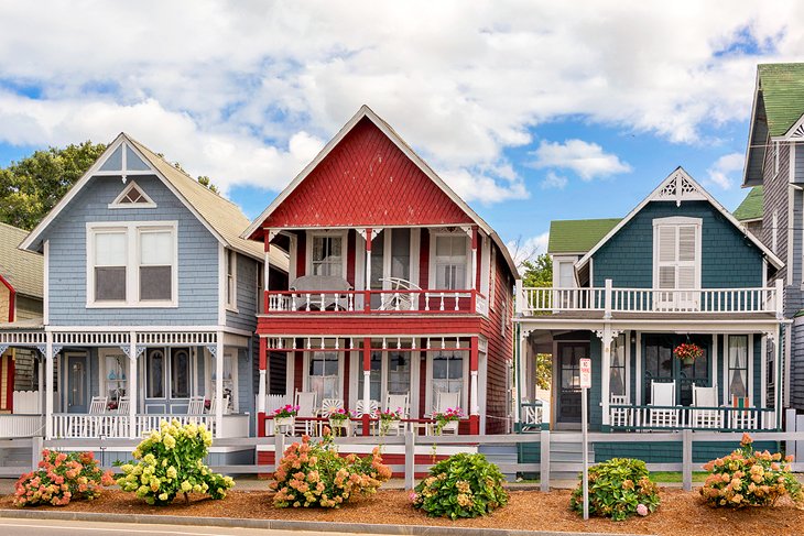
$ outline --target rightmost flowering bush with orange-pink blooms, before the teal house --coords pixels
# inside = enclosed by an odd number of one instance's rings
[[[709,471],[700,489],[706,502],[731,508],[773,506],[779,497],[790,495],[804,508],[802,485],[790,471],[793,456],[782,461],[779,452],[754,451],[752,442],[751,436],[743,434],[739,449],[704,466]]]

